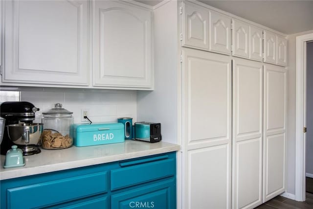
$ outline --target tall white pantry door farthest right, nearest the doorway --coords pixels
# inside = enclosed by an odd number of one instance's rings
[[[285,191],[286,69],[264,65],[263,202]]]

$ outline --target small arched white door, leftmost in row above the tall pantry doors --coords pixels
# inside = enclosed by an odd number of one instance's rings
[[[182,5],[182,46],[208,50],[208,10],[187,1]]]

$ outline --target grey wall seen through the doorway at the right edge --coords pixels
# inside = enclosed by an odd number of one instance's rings
[[[307,44],[307,64],[306,173],[313,175],[313,42]]]

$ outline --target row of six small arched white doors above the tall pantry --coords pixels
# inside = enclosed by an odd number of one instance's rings
[[[195,2],[181,5],[181,46],[287,66],[284,37]]]

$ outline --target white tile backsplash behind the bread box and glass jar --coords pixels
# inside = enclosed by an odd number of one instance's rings
[[[133,117],[136,121],[136,91],[35,87],[19,87],[18,91],[21,101],[40,108],[34,122],[40,122],[42,113],[53,108],[55,103],[61,103],[63,108],[73,112],[74,123],[81,123],[82,110],[89,111],[92,122],[117,122],[118,117]]]

